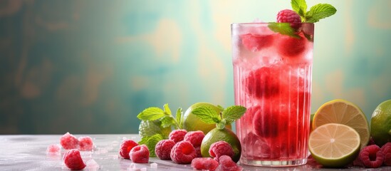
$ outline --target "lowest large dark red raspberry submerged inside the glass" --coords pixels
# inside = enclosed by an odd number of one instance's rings
[[[246,113],[254,116],[252,120],[254,133],[261,138],[273,138],[288,129],[288,120],[283,118],[283,115],[280,115],[276,108],[272,108],[268,104],[264,108],[259,105],[251,107]]]

